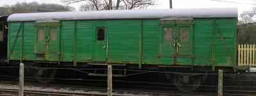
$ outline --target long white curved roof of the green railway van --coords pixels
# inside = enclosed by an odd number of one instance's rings
[[[49,20],[97,20],[129,18],[237,18],[237,8],[201,8],[174,10],[105,10],[105,11],[67,11],[46,13],[15,13],[8,22],[49,21]]]

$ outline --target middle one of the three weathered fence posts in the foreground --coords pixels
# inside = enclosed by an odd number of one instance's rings
[[[112,96],[112,65],[108,65],[108,96]]]

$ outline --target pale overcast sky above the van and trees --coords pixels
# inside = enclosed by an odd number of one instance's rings
[[[4,4],[15,4],[18,2],[38,3],[55,3],[62,4],[60,0],[0,0],[0,6]],[[169,0],[155,0],[157,5],[151,6],[150,9],[167,9],[169,8]],[[230,3],[228,3],[230,2]],[[81,4],[81,3],[80,3]],[[78,10],[80,4],[71,4]],[[256,4],[254,0],[173,0],[173,8],[238,8],[239,13],[251,10]]]

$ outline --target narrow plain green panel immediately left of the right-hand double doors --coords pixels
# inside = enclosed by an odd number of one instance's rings
[[[160,50],[159,20],[143,20],[142,64],[158,64]]]

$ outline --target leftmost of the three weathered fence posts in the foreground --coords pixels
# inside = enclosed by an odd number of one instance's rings
[[[24,95],[24,64],[19,67],[19,96]]]

